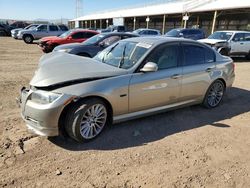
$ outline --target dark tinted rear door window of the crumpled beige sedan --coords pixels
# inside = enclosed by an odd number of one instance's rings
[[[182,45],[184,62],[183,66],[199,65],[205,63],[205,48],[192,44]]]

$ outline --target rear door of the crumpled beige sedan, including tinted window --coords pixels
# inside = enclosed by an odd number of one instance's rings
[[[208,47],[188,42],[182,43],[182,49],[183,75],[180,100],[200,100],[212,82],[215,54]]]

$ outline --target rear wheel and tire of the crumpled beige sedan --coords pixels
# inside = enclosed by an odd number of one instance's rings
[[[203,105],[206,108],[215,108],[219,106],[225,93],[225,85],[221,80],[214,81],[208,88]]]

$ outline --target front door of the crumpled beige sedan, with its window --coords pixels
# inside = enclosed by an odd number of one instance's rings
[[[182,68],[179,67],[180,46],[164,44],[157,47],[144,60],[158,65],[158,71],[138,71],[129,86],[129,111],[136,112],[178,102]]]

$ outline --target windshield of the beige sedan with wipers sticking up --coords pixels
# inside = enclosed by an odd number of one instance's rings
[[[120,41],[97,54],[94,59],[114,67],[129,69],[150,47],[147,43]]]

